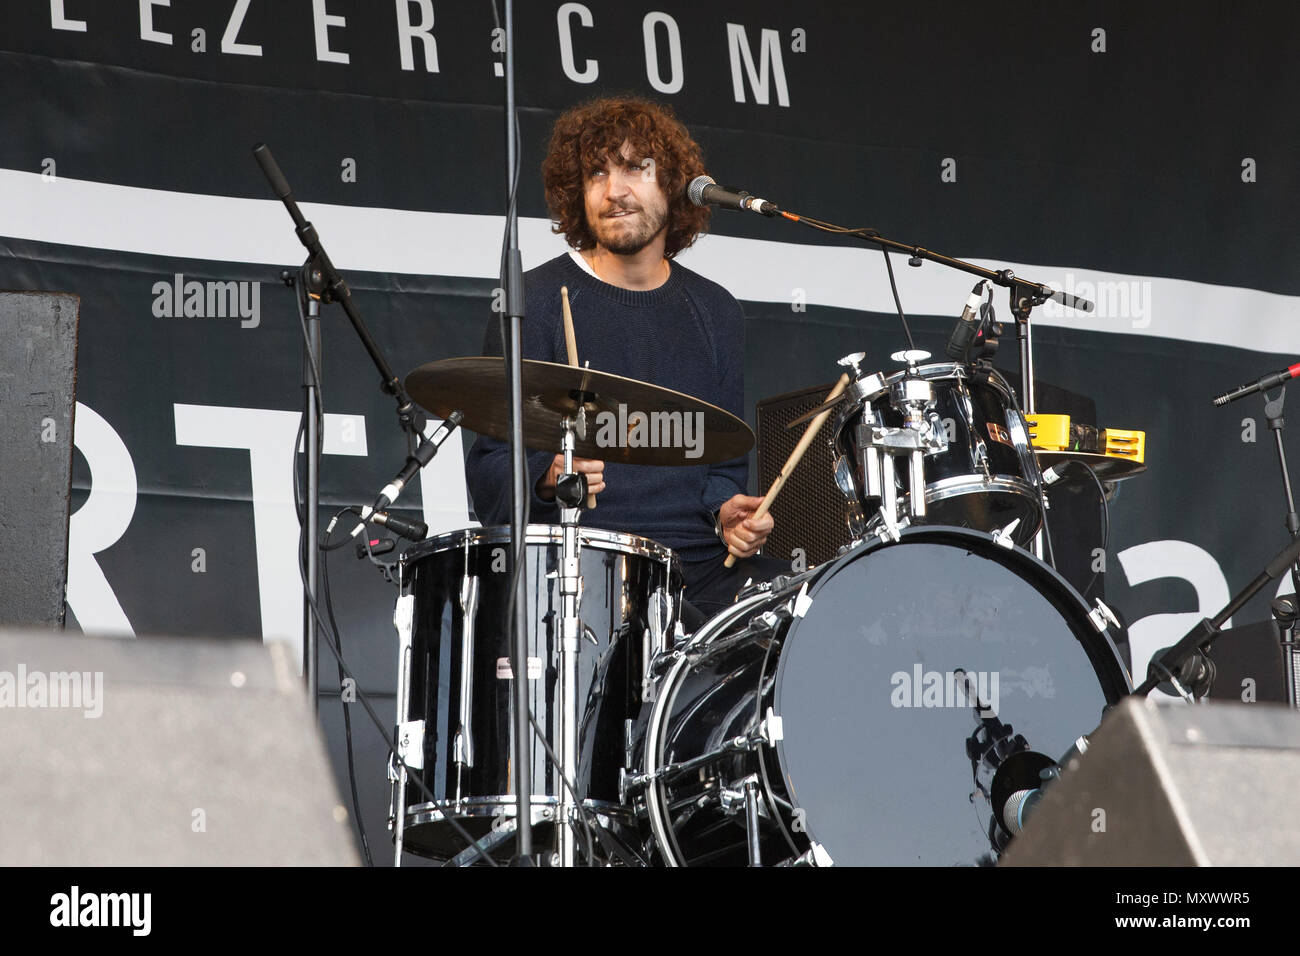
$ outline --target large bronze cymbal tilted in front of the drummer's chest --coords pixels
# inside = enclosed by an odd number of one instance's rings
[[[495,356],[442,359],[411,372],[407,393],[446,418],[464,412],[465,428],[508,441],[506,362]],[[581,399],[581,401],[580,401]],[[586,434],[573,454],[625,464],[715,464],[754,446],[744,421],[698,398],[594,368],[524,360],[524,444],[562,450],[563,423],[585,411]]]

